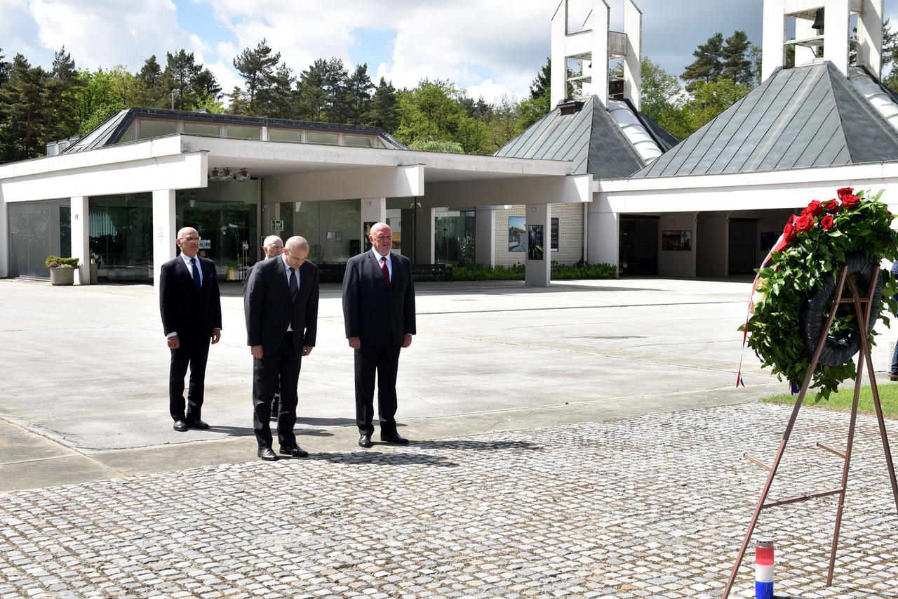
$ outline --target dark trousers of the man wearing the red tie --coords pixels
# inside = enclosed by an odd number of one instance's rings
[[[396,372],[400,345],[365,345],[355,350],[356,425],[359,433],[374,434],[374,372],[377,373],[377,417],[381,432],[396,432]]]

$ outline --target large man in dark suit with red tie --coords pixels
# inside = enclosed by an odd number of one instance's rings
[[[396,371],[401,348],[415,335],[415,284],[411,263],[392,254],[392,230],[371,228],[371,251],[349,259],[343,278],[343,319],[355,350],[358,444],[371,447],[374,434],[374,373],[381,440],[409,443],[396,431]]]

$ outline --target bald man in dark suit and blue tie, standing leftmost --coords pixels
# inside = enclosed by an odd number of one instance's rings
[[[209,340],[221,339],[222,306],[216,265],[197,255],[197,229],[178,231],[180,255],[163,264],[159,273],[159,310],[172,363],[169,367],[169,411],[174,430],[206,429],[201,410],[206,386]],[[187,414],[184,413],[184,376],[190,368]]]

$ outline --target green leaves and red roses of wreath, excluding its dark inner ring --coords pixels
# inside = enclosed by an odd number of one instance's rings
[[[800,216],[792,215],[783,228],[780,244],[785,243],[785,247],[772,252],[770,260],[758,269],[753,314],[739,330],[747,327],[748,346],[779,380],[785,378],[794,387],[805,380],[811,355],[800,335],[802,310],[811,293],[823,287],[824,279],[839,274],[846,255],[862,253],[877,264],[898,258],[898,231],[891,228],[894,216],[879,201],[882,194],[880,191],[865,197],[865,192],[855,195],[852,188],[843,187],[838,199],[812,201]],[[883,300],[895,313],[894,278],[886,270],[879,276],[884,282]],[[858,292],[866,293],[867,289]],[[888,322],[882,311],[874,317]],[[842,308],[836,312],[830,336],[857,327],[854,310]],[[868,337],[871,346],[872,337]],[[829,398],[843,380],[853,380],[855,373],[853,360],[840,366],[818,364],[811,382],[818,390],[816,400]]]

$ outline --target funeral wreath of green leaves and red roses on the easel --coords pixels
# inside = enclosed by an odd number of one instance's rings
[[[811,201],[800,215],[789,217],[770,259],[758,269],[753,308],[739,330],[747,331],[748,346],[770,367],[779,380],[800,387],[810,366],[833,305],[836,280],[843,265],[858,294],[866,296],[879,270],[873,314],[861,333],[853,304],[842,303],[824,342],[820,362],[814,369],[811,387],[816,399],[829,398],[832,391],[856,373],[852,357],[858,353],[860,335],[873,344],[873,326],[882,317],[883,302],[895,313],[892,299],[898,291],[883,260],[898,258],[898,231],[894,216],[879,201],[882,191],[854,193],[843,187],[838,198]],[[842,296],[850,293],[845,284]]]

